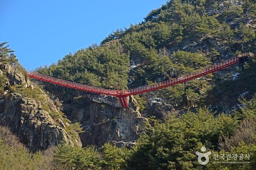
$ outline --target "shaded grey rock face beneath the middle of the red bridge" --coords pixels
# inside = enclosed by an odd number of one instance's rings
[[[134,100],[132,98],[133,102]],[[137,109],[115,108],[92,102],[83,110],[81,123],[84,133],[79,134],[83,146],[102,145],[108,141],[119,142],[119,146],[123,142],[135,141],[143,132],[145,122],[148,122]],[[76,111],[73,113],[81,114]]]

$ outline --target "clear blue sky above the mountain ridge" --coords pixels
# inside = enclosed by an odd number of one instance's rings
[[[9,42],[26,69],[49,66],[143,21],[166,1],[0,0],[0,42]]]

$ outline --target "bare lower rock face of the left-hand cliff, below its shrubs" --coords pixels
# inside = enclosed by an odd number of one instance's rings
[[[12,93],[2,108],[0,124],[10,127],[31,151],[47,149],[62,142],[74,145],[65,130],[56,126],[49,113],[34,99]]]

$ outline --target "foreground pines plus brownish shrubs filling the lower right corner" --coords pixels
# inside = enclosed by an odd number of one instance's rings
[[[204,169],[197,162],[196,151],[202,146],[211,151],[207,169],[253,169],[255,167],[255,109],[256,100],[243,100],[244,121],[238,126],[237,115],[217,115],[207,108],[188,112],[178,118],[170,117],[165,123],[155,123],[148,135],[142,135],[127,159],[131,169]],[[245,120],[245,118],[247,120]],[[254,121],[252,121],[254,119]],[[219,143],[225,137],[223,145]],[[227,137],[230,137],[227,138]],[[238,143],[240,142],[240,143]],[[238,145],[236,145],[238,143]],[[245,144],[246,143],[246,144]],[[220,147],[230,150],[218,150]],[[249,164],[215,164],[214,154],[250,154]],[[222,161],[222,160],[220,160]],[[231,161],[240,161],[231,160]],[[244,159],[244,161],[248,161]]]

